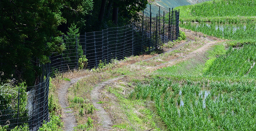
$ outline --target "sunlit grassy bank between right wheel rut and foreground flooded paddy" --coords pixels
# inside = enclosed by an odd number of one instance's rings
[[[116,123],[113,125],[114,130],[126,130],[126,131],[137,131],[137,130],[147,130],[155,129],[160,131],[156,126],[156,119],[154,119],[155,114],[152,113],[149,109],[145,108],[145,102],[142,100],[126,99],[126,97],[121,93],[123,88],[119,86],[109,86],[108,92],[113,94],[116,98],[114,101],[117,101],[120,105],[118,107],[114,106],[110,99],[102,99],[104,101],[104,107],[108,107],[106,110],[114,112],[113,121]],[[149,87],[145,88],[144,92],[141,94],[145,96],[148,94],[147,91]],[[147,89],[148,88],[148,89]],[[144,94],[145,93],[145,94]]]

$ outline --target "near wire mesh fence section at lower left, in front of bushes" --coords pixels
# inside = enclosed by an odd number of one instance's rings
[[[48,121],[49,74],[45,67],[36,86],[25,87],[22,83],[19,87],[13,84],[0,87],[1,126],[9,126],[8,130],[28,126],[30,131],[37,131],[43,121]]]

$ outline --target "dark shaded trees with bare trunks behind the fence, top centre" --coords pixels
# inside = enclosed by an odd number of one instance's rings
[[[107,0],[106,3],[105,0],[93,0],[93,2],[92,15],[86,22],[87,32],[123,26],[139,20],[138,12],[144,10],[148,3],[147,0]],[[105,7],[103,8],[102,5]]]

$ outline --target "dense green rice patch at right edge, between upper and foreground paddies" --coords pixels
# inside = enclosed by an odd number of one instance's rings
[[[205,75],[248,77],[255,79],[256,44],[244,45],[241,48],[229,48],[225,55],[220,55],[206,69]]]

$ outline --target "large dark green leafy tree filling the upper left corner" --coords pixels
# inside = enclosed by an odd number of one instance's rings
[[[2,0],[0,9],[0,72],[2,80],[16,78],[28,86],[38,83],[38,64],[65,49],[57,27],[62,0]]]

